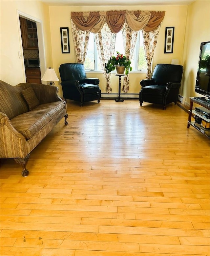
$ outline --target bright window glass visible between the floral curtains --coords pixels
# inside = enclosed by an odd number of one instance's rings
[[[124,54],[122,32],[116,34],[116,45],[115,45],[115,54],[116,51]],[[142,32],[138,32],[137,43],[134,50],[133,58],[131,59],[132,71],[145,71],[147,70],[147,63],[144,53],[143,46],[143,36]],[[95,43],[95,37],[93,33],[90,33],[90,40],[88,45],[88,51],[85,58],[85,69],[90,71],[102,71],[100,60],[98,57],[97,47]]]

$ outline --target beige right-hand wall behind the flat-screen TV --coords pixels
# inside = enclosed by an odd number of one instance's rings
[[[189,104],[189,97],[198,96],[195,93],[196,75],[200,43],[210,41],[210,1],[196,1],[188,7],[186,35],[184,39],[183,66],[184,75],[180,93],[186,97],[186,104]]]

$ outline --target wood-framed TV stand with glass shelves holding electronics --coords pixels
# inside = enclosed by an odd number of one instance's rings
[[[202,98],[190,97],[190,109],[189,109],[189,115],[188,115],[187,128],[192,126],[210,139],[210,129],[205,129],[201,125],[197,124],[195,121],[191,121],[192,116],[193,116],[193,118],[194,118],[194,116],[199,116],[205,122],[210,123],[210,119],[203,117],[199,113],[195,112],[195,110],[193,110],[193,103],[199,104],[200,106],[205,107],[208,110],[210,110],[209,103],[206,102],[205,100],[203,100]]]

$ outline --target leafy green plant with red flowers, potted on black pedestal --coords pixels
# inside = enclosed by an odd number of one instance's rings
[[[123,54],[120,54],[117,51],[117,56],[111,56],[107,63],[105,63],[105,69],[107,74],[114,71],[117,67],[125,67],[124,71],[127,75],[129,71],[132,71],[131,67],[131,61]],[[124,73],[124,71],[121,72],[121,74]],[[117,71],[117,73],[120,73]]]

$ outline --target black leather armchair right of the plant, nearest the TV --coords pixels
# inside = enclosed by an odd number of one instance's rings
[[[140,81],[141,90],[139,102],[143,101],[166,105],[174,102],[176,104],[181,86],[183,66],[172,64],[157,64],[153,71],[152,79]]]

